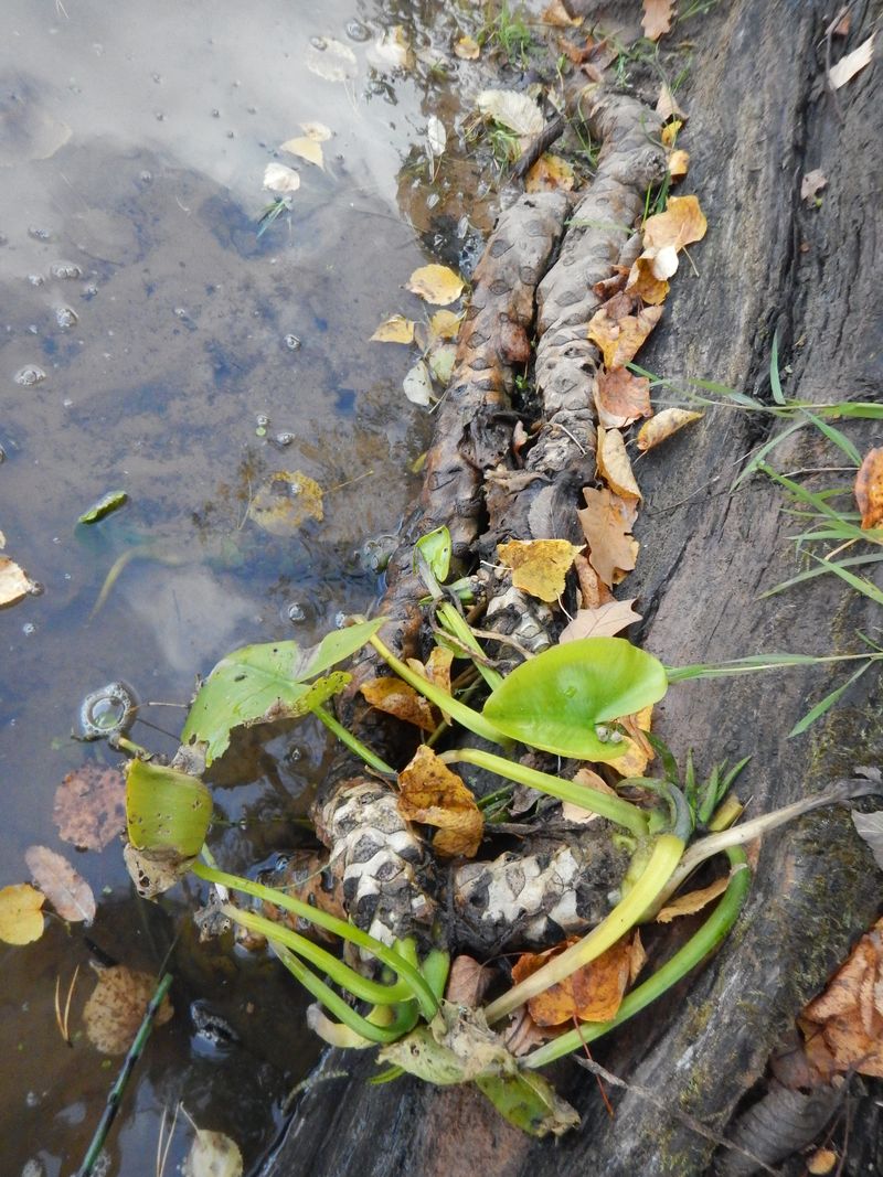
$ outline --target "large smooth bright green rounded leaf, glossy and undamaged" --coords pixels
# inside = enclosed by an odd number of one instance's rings
[[[622,744],[596,725],[657,703],[665,667],[624,638],[584,638],[551,646],[517,666],[491,693],[484,716],[512,739],[579,760],[613,760]]]

